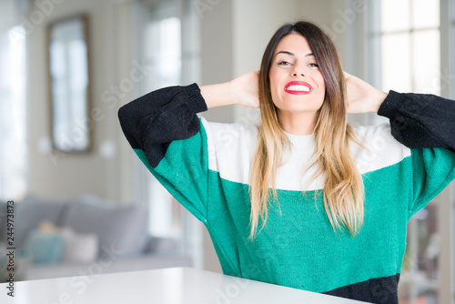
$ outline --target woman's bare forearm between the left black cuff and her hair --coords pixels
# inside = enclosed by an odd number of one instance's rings
[[[200,86],[208,108],[240,105],[259,107],[259,72],[249,72],[222,84]]]

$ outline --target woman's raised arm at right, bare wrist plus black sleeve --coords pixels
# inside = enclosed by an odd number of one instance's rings
[[[430,94],[386,94],[356,76],[345,76],[349,113],[388,117],[392,136],[406,147],[446,147],[455,152],[455,101]]]

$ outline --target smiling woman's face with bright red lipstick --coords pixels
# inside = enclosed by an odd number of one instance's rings
[[[292,33],[279,41],[269,73],[278,116],[282,112],[316,115],[324,101],[326,86],[304,36]]]

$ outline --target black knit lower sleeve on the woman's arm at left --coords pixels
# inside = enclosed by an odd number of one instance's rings
[[[118,118],[131,147],[147,150],[150,165],[157,167],[172,141],[197,134],[196,114],[206,110],[197,84],[169,86],[122,106]]]

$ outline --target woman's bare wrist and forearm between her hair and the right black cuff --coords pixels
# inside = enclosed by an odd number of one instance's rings
[[[370,86],[359,77],[344,72],[348,95],[348,113],[378,113],[387,94]]]

